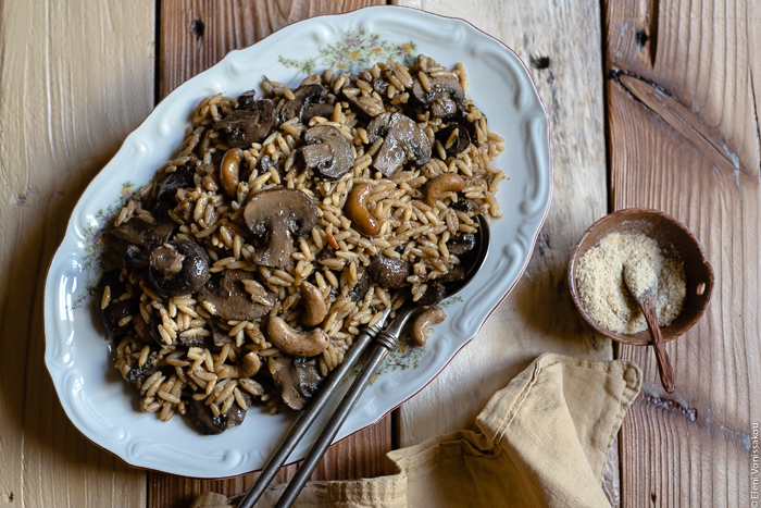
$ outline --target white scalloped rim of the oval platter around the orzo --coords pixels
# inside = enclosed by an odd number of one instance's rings
[[[305,42],[313,54],[304,54]],[[469,97],[504,138],[506,152],[494,163],[508,173],[497,194],[504,216],[492,222],[484,268],[458,297],[445,301],[448,319],[436,325],[428,345],[404,347],[387,360],[337,439],[420,392],[475,337],[525,271],[551,198],[549,119],[528,70],[511,49],[462,20],[387,5],[312,17],[232,51],[170,94],[76,205],[46,281],[45,361],[67,417],[88,439],[130,466],[185,476],[225,478],[263,467],[295,413],[271,416],[255,406],[242,425],[203,436],[183,418],[165,423],[137,410],[137,397],[113,369],[91,305],[100,232],[129,194],[178,150],[203,97],[235,97],[260,84],[264,74],[296,86],[313,71],[357,71],[388,57],[409,62],[417,53],[449,67],[462,62]],[[310,431],[290,461],[302,458],[317,435]]]

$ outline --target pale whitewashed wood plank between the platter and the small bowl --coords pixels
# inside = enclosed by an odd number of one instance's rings
[[[399,3],[467,20],[528,64],[550,114],[554,178],[550,213],[522,281],[478,336],[402,406],[401,445],[409,446],[474,429],[488,398],[542,352],[611,359],[612,349],[583,322],[565,282],[573,245],[607,212],[599,4]]]

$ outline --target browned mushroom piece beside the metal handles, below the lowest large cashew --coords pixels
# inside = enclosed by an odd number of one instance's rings
[[[323,376],[319,358],[294,358],[287,355],[270,358],[270,373],[289,408],[301,410],[320,388]]]

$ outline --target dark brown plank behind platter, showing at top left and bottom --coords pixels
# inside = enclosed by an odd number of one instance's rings
[[[250,46],[271,33],[305,17],[348,12],[380,0],[161,2],[161,59],[159,89],[163,98],[178,85],[210,67],[228,51]],[[202,27],[202,28],[201,28]],[[313,480],[349,480],[384,471],[384,457],[391,449],[390,417],[330,447],[312,475]],[[284,468],[274,483],[286,482],[296,466]],[[228,480],[201,481],[149,473],[148,506],[187,506],[201,492],[227,496],[245,492],[255,480],[248,474]]]

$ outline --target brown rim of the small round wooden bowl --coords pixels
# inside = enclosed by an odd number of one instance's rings
[[[687,227],[682,221],[669,215],[668,213],[663,213],[660,210],[654,210],[651,208],[624,208],[622,210],[616,210],[614,212],[608,213],[607,215],[603,215],[602,218],[598,219],[592,223],[587,230],[582,234],[582,236],[578,238],[576,241],[576,245],[574,246],[573,250],[571,251],[571,259],[569,260],[569,292],[571,293],[571,299],[573,300],[573,303],[576,306],[576,309],[578,312],[582,314],[584,320],[591,325],[592,329],[604,335],[606,337],[609,337],[617,343],[622,344],[628,344],[631,346],[649,346],[652,344],[651,340],[641,340],[638,338],[634,338],[631,334],[619,334],[615,332],[611,332],[609,330],[603,329],[597,322],[587,313],[586,309],[582,306],[581,300],[578,299],[577,290],[576,290],[576,277],[574,276],[574,271],[576,268],[576,258],[578,256],[578,249],[581,248],[582,244],[584,240],[595,231],[597,230],[601,224],[606,223],[607,221],[611,220],[611,218],[615,218],[619,215],[632,215],[633,219],[635,218],[643,218],[645,220],[649,220],[651,216],[660,216],[662,219],[665,219],[666,221],[673,222],[677,226],[679,226],[687,235],[691,238],[691,240],[695,243],[695,245],[698,247],[698,250],[700,251],[700,257],[702,258],[703,264],[708,269],[708,281],[706,282],[706,301],[700,309],[700,311],[697,313],[695,319],[690,320],[683,329],[677,330],[676,332],[673,332],[669,335],[663,334],[663,340],[664,342],[671,342],[674,340],[682,335],[684,335],[689,329],[691,329],[695,323],[697,323],[702,314],[706,312],[706,308],[708,308],[708,303],[711,300],[711,295],[713,293],[713,268],[711,267],[711,263],[708,261],[708,257],[706,256],[706,251],[703,250],[702,245],[700,244],[700,240],[695,236],[695,234],[690,231],[689,227]],[[612,232],[611,232],[612,233]]]

